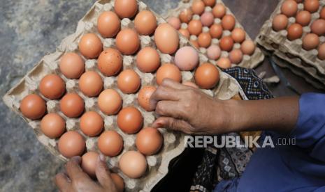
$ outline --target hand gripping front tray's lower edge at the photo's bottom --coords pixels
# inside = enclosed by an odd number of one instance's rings
[[[71,158],[66,163],[66,173],[59,173],[55,177],[55,183],[62,192],[71,191],[109,191],[115,192],[117,188],[110,177],[106,163],[99,157],[96,166],[96,177],[99,183],[94,182],[80,168],[80,157]]]

